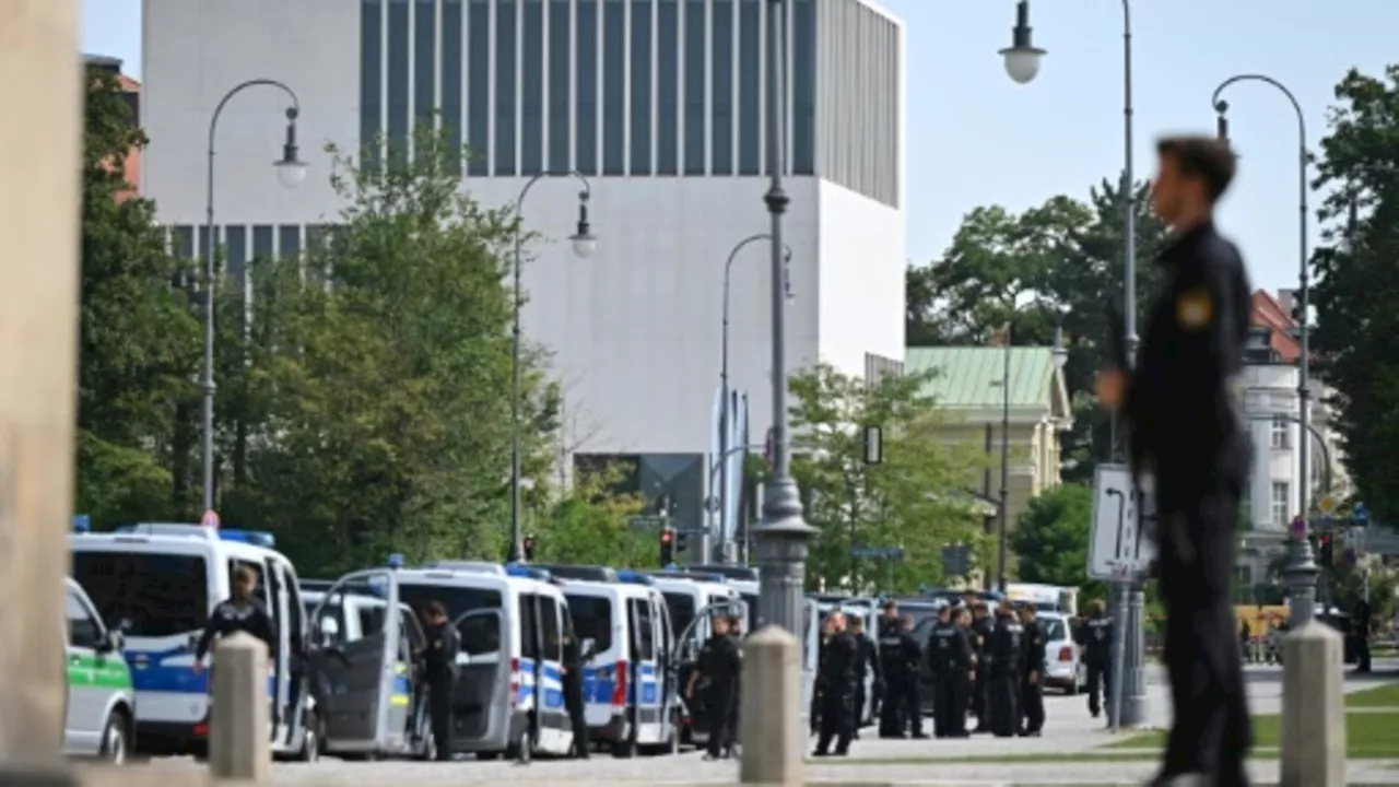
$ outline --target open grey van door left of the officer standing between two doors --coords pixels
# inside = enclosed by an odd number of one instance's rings
[[[393,571],[355,571],[326,591],[312,616],[309,672],[329,751],[376,752],[388,745],[399,647],[389,611],[397,606]]]

